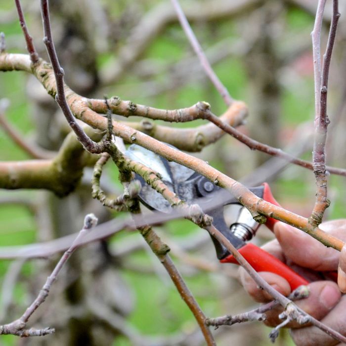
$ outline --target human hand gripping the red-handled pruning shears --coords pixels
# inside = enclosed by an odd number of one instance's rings
[[[346,219],[324,222],[320,225],[324,231],[346,240]],[[263,249],[293,268],[311,283],[309,297],[296,304],[311,316],[346,335],[346,247],[341,252],[327,248],[308,234],[285,223],[277,222],[274,227],[276,239],[265,244]],[[323,272],[338,269],[338,285],[332,281],[322,280]],[[289,283],[283,277],[270,273],[260,272],[278,292],[285,296],[291,293]],[[270,295],[259,289],[255,281],[245,269],[239,269],[239,276],[245,290],[256,302],[272,301]],[[341,291],[341,292],[340,292]],[[278,315],[282,312],[277,307],[266,313],[268,326],[276,326],[282,320]],[[326,333],[314,326],[300,326],[290,323],[291,335],[296,345],[332,346],[337,345]]]

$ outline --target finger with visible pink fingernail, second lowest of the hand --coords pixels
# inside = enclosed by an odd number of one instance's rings
[[[308,298],[296,301],[295,303],[301,307],[306,313],[320,320],[326,316],[329,311],[339,302],[341,298],[340,290],[334,282],[316,281],[308,285],[310,293]],[[267,320],[265,324],[268,326],[276,326],[282,322],[278,315],[283,311],[281,306],[266,312]],[[287,325],[289,328],[301,328],[297,322]]]

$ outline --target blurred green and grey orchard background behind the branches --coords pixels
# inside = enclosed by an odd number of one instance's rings
[[[39,1],[23,0],[22,4],[36,47],[47,59]],[[186,0],[182,5],[216,74],[234,98],[249,106],[247,124],[241,130],[311,160],[314,99],[310,32],[315,1]],[[222,6],[225,9],[217,11]],[[341,7],[343,14],[344,4]],[[323,43],[330,20],[326,12]],[[66,82],[80,94],[96,98],[118,95],[165,109],[205,100],[215,114],[226,110],[196,60],[170,1],[58,0],[51,3],[51,18]],[[147,38],[145,31],[155,27]],[[26,53],[11,0],[1,1],[0,31],[6,35],[8,52]],[[332,120],[328,164],[339,167],[345,167],[345,38],[342,16],[328,93]],[[130,61],[141,43],[143,47]],[[6,118],[23,136],[45,149],[59,148],[66,125],[54,101],[44,95],[32,76],[1,73],[0,98],[9,100]],[[283,207],[309,215],[315,194],[311,171],[272,159],[258,171],[270,158],[229,136],[196,155],[249,185],[268,180]],[[1,129],[0,157],[3,161],[30,159]],[[30,244],[76,232],[87,212],[94,212],[101,221],[114,217],[90,202],[89,178],[87,169],[80,188],[63,199],[44,191],[0,191],[0,246]],[[109,193],[121,191],[113,165],[107,167],[103,179]],[[332,203],[327,218],[345,217],[343,191],[345,179],[331,176]],[[173,260],[207,316],[233,314],[254,305],[234,279],[236,268],[217,263],[205,231],[185,220],[169,222],[157,230],[172,246]],[[261,229],[257,242],[271,237]],[[0,261],[0,323],[22,313],[56,259]],[[203,345],[192,314],[139,234],[124,231],[108,242],[80,250],[71,262],[32,321],[43,326],[49,323],[56,334],[35,340],[1,336],[0,345]],[[14,282],[8,284],[15,270]],[[8,285],[13,291],[10,302],[5,296]],[[111,301],[115,314],[113,325],[99,318],[90,304],[83,307],[92,295],[98,299],[109,296],[106,301]],[[270,344],[268,332],[262,324],[252,323],[221,327],[215,334],[217,345],[256,342],[264,346]],[[277,344],[291,345],[288,334],[282,333]]]

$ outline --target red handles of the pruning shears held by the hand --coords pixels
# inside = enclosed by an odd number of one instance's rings
[[[263,185],[263,199],[267,202],[270,202],[271,204],[280,207],[279,203],[273,197],[269,185],[266,182],[263,183]],[[274,224],[276,222],[278,222],[278,220],[271,217],[267,217],[265,225],[271,231],[273,231]],[[289,266],[287,266],[279,259],[268,254],[266,251],[260,249],[258,246],[254,244],[246,244],[238,251],[256,271],[269,271],[271,273],[278,274],[285,278],[289,282],[292,291],[301,285],[308,284],[307,280],[305,280],[302,276],[297,274]],[[221,259],[220,262],[238,264],[237,260],[232,255],[226,257],[225,259]]]

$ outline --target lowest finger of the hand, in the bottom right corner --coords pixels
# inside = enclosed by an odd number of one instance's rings
[[[346,334],[346,296],[343,296],[340,302],[330,313],[325,316],[321,322],[335,329],[337,332]],[[298,346],[334,346],[339,342],[319,328],[311,326],[291,331],[292,338]],[[344,344],[342,344],[344,345]]]

